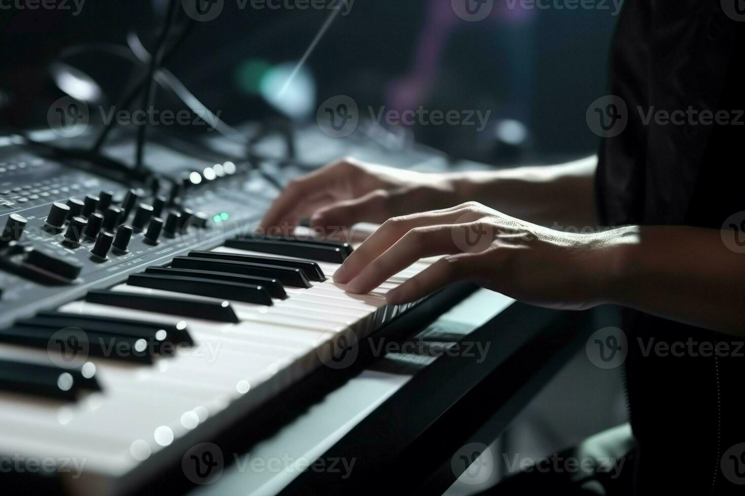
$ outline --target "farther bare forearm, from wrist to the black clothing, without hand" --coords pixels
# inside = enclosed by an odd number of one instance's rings
[[[549,228],[596,227],[597,157],[568,164],[452,176],[458,196]]]

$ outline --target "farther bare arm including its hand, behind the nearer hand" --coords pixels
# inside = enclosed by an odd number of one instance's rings
[[[261,222],[265,230],[291,230],[301,219],[317,228],[382,223],[392,216],[488,204],[539,225],[577,231],[595,226],[597,158],[510,170],[422,174],[346,158],[297,178]]]

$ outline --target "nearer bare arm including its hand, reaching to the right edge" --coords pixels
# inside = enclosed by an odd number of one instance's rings
[[[466,235],[477,236],[475,244],[458,242]],[[390,219],[334,279],[349,292],[367,293],[410,263],[434,255],[446,257],[388,292],[391,303],[473,280],[539,306],[587,309],[616,303],[745,337],[745,254],[728,248],[716,229],[628,226],[561,233],[469,203]]]

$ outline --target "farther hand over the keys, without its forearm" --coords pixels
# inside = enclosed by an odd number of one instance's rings
[[[270,207],[261,229],[288,233],[302,219],[311,228],[381,224],[390,217],[458,203],[448,175],[424,174],[344,158],[288,184]]]

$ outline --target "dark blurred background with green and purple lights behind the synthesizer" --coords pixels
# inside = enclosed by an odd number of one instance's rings
[[[149,49],[166,3],[87,0],[77,15],[72,1],[72,10],[4,8],[0,122],[46,125],[50,103],[63,95],[51,77],[55,63],[80,69],[98,83],[98,101],[116,103],[135,65],[127,49],[112,46],[126,48],[127,33],[136,33]],[[497,0],[487,19],[466,22],[451,0],[356,0],[348,12],[343,7],[345,15],[278,99],[279,86],[330,12],[250,5],[224,0],[217,19],[194,22],[167,64],[228,123],[278,116],[311,122],[320,102],[346,94],[364,115],[367,106],[492,111],[483,132],[407,127],[416,141],[457,158],[553,161],[595,151],[585,111],[606,94],[609,39],[618,19],[609,10],[525,10],[519,2],[510,9]],[[185,108],[165,91],[156,106]]]

